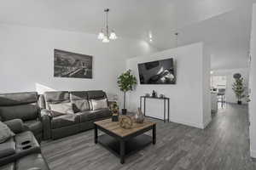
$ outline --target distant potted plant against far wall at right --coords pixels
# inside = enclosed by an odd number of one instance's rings
[[[245,86],[243,83],[243,78],[241,77],[241,74],[236,73],[234,74],[234,79],[235,82],[233,83],[233,90],[234,93],[236,94],[236,98],[237,98],[237,104],[241,105],[241,99],[243,99],[245,97],[244,91],[245,91]]]

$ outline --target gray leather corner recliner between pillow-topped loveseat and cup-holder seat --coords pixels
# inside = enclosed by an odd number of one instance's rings
[[[40,143],[43,137],[43,123],[47,126],[49,117],[41,115],[36,92],[0,94],[0,121],[21,119]]]

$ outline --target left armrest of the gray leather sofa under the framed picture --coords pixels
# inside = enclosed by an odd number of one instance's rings
[[[50,121],[52,119],[51,111],[43,109],[40,112],[40,121],[43,124],[43,138],[44,140],[50,139]]]

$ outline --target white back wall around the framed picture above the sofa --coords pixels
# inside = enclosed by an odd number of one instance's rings
[[[125,59],[155,51],[147,42],[119,38],[102,43],[96,35],[0,25],[0,93],[102,89],[116,94]],[[93,56],[93,79],[54,75],[54,48]]]

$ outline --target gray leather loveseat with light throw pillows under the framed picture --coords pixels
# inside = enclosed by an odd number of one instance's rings
[[[102,90],[96,91],[55,91],[46,92],[41,96],[42,115],[49,116],[49,126],[44,127],[44,136],[48,139],[59,139],[74,133],[79,133],[94,127],[93,122],[106,119],[112,116],[108,108],[93,110],[89,108],[81,111],[77,104],[90,102],[91,99],[107,99],[107,95]],[[50,109],[51,104],[73,104],[73,117],[70,114],[54,116]],[[108,103],[108,99],[107,99]],[[47,129],[48,128],[48,129]],[[46,134],[47,133],[47,134]]]

